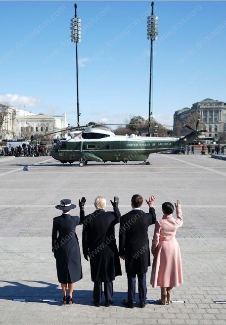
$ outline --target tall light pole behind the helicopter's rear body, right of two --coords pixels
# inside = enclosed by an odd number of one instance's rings
[[[158,38],[158,17],[154,15],[154,2],[151,2],[151,16],[147,17],[147,39],[151,40],[151,55],[150,55],[150,84],[149,84],[149,106],[148,106],[148,136],[153,133],[153,115],[151,109],[151,89],[152,89],[152,52],[153,41]]]

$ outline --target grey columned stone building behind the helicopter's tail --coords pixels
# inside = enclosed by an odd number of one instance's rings
[[[226,138],[226,103],[223,101],[206,98],[194,103],[191,108],[185,107],[174,113],[174,136],[180,137],[188,132],[183,124],[195,128],[197,119],[200,118],[198,129],[207,130],[204,138],[215,140]]]

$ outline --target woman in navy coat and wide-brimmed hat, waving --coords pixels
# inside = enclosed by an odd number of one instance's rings
[[[85,197],[79,200],[80,209],[86,202]],[[61,200],[56,209],[62,210],[62,215],[53,219],[52,252],[56,259],[57,278],[63,290],[63,304],[73,304],[72,295],[75,282],[83,278],[79,241],[76,235],[76,226],[81,225],[78,216],[71,216],[70,210],[76,205],[71,200]],[[69,294],[67,296],[67,283]]]

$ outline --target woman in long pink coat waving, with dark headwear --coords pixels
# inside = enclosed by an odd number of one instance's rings
[[[151,270],[152,287],[161,287],[160,304],[169,305],[174,286],[183,283],[181,251],[175,238],[182,226],[181,200],[175,203],[177,219],[173,217],[174,206],[170,202],[162,204],[163,217],[155,223],[151,252],[154,256]]]

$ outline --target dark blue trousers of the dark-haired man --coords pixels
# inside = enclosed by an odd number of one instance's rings
[[[140,302],[146,301],[147,295],[147,284],[146,284],[146,273],[137,274],[138,279],[138,296]],[[135,292],[136,292],[136,275],[134,277],[127,274],[128,280],[128,302],[134,303],[135,302]]]

